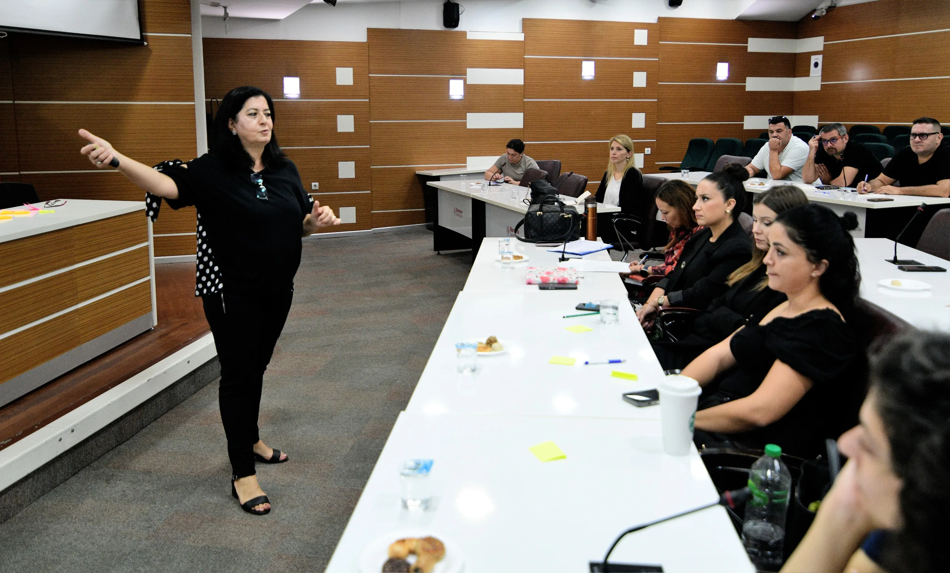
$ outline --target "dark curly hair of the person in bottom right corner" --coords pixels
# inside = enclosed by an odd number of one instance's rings
[[[892,573],[936,573],[950,563],[950,336],[911,330],[872,349],[871,387],[903,482],[901,527],[883,546]]]

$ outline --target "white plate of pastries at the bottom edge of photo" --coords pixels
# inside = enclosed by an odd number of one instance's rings
[[[431,531],[400,529],[380,535],[360,553],[360,573],[462,573],[458,545]]]

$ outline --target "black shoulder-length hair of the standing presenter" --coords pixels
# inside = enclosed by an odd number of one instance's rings
[[[228,127],[228,120],[237,121],[237,114],[244,107],[244,103],[251,98],[262,96],[267,100],[267,106],[271,108],[271,120],[276,122],[276,113],[274,110],[274,100],[271,95],[259,87],[253,85],[242,85],[228,92],[221,100],[218,107],[218,114],[215,115],[214,124],[211,127],[210,140],[212,155],[220,158],[226,165],[235,170],[253,169],[254,159],[244,150],[237,135],[231,133]],[[273,169],[282,165],[287,160],[287,156],[281,151],[277,144],[277,138],[274,131],[271,131],[271,141],[264,147],[264,154],[261,161],[267,169]]]

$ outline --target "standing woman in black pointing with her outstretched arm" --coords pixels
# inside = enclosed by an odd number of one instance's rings
[[[271,504],[257,484],[255,458],[286,462],[257,434],[261,386],[294,295],[300,237],[339,225],[329,207],[311,202],[294,163],[274,137],[274,102],[257,87],[237,87],[221,101],[213,151],[188,163],[151,169],[79,130],[81,153],[100,169],[112,164],[172,209],[198,208],[195,294],[204,305],[221,364],[218,401],[241,508],[262,515]],[[118,160],[115,165],[114,160]],[[159,171],[161,170],[161,171]]]

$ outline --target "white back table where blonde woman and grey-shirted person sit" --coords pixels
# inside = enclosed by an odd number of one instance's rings
[[[524,199],[531,190],[502,183],[486,186],[485,178],[428,181],[437,190],[433,226],[433,250],[479,250],[485,237],[514,237],[515,227],[527,213]],[[514,194],[515,196],[512,196]],[[561,196],[570,204],[573,197]],[[618,213],[614,205],[598,203],[598,213]],[[583,204],[578,206],[583,212]],[[521,231],[522,234],[524,231]]]

